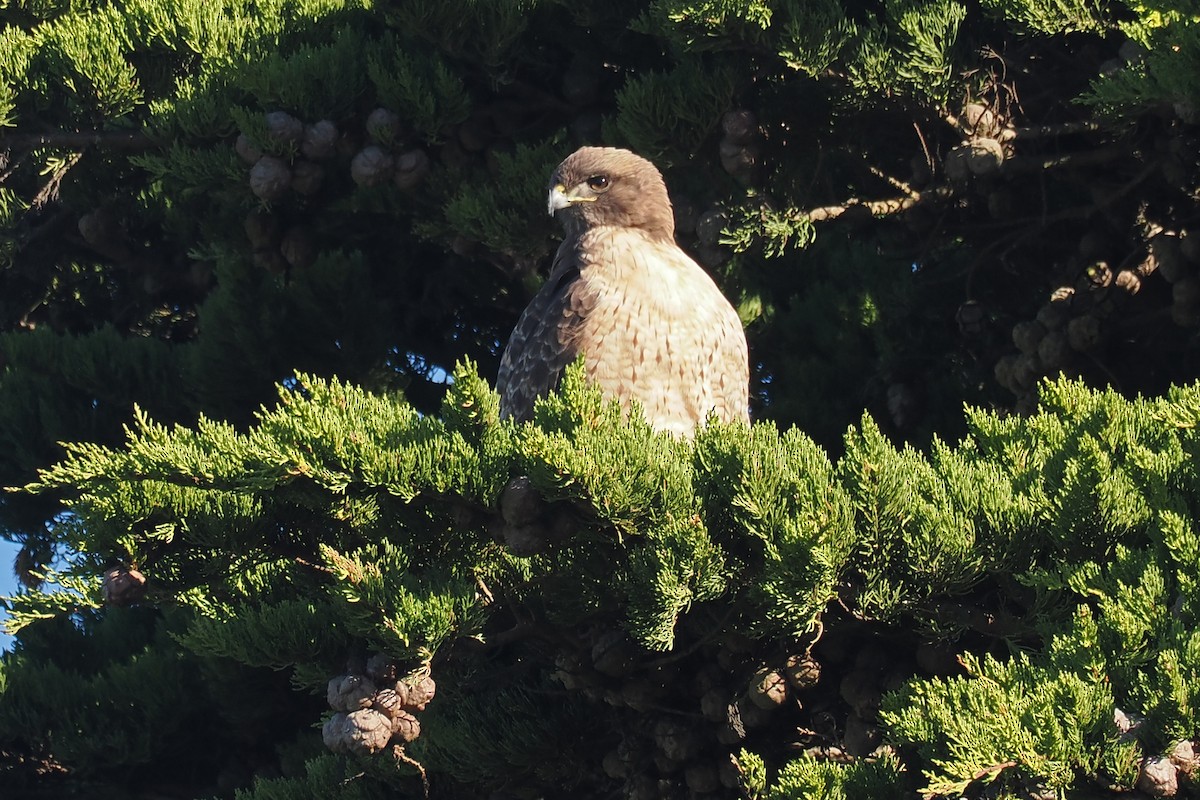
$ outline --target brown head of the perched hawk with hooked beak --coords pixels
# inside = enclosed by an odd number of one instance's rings
[[[673,239],[674,216],[654,164],[629,150],[580,148],[550,178],[550,213],[563,211],[568,229],[640,228]]]

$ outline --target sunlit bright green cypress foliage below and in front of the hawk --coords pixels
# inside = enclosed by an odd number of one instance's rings
[[[1200,480],[1186,464],[1200,449],[1200,387],[1129,402],[1048,383],[1034,416],[972,410],[970,435],[929,456],[895,447],[865,419],[834,467],[769,423],[714,423],[691,443],[656,433],[583,375],[571,367],[521,426],[498,419],[470,365],[456,371],[442,417],[298,375],[245,432],[142,416],[125,447],[68,445],[30,488],[76,487],[77,521],[62,524],[86,537],[80,549],[121,554],[160,601],[191,608],[174,634],[191,654],[287,669],[312,690],[354,642],[409,664],[440,663],[456,640],[486,646],[498,595],[566,630],[623,619],[637,644],[670,651],[686,620],[721,608],[722,626],[761,642],[803,639],[847,583],[842,602],[862,615],[961,626],[940,599],[1015,573],[1046,599],[1031,620],[1043,649],[966,652],[966,675],[917,679],[884,702],[892,740],[924,760],[925,792],[992,781],[1066,790],[1079,775],[1128,786],[1139,753],[1194,735]],[[511,474],[551,509],[572,509],[563,539],[528,559],[484,534]],[[280,546],[292,555],[272,559]],[[59,583],[83,587],[94,570],[79,559]],[[77,613],[91,587],[7,602],[36,631]],[[548,747],[584,712],[542,716],[529,693],[536,673],[523,688],[476,696],[486,673],[468,664],[439,673],[461,694],[414,751],[430,769],[457,770],[475,750],[488,753],[475,764],[487,780],[514,763],[512,748]],[[14,674],[24,673],[10,684]],[[46,675],[47,687],[64,679]],[[19,691],[30,704],[20,714],[41,714],[48,700]],[[1145,730],[1121,738],[1117,708],[1144,716]],[[562,778],[524,752],[521,769]],[[742,765],[748,786],[756,763]],[[804,758],[757,792],[884,796],[901,781],[889,759]]]

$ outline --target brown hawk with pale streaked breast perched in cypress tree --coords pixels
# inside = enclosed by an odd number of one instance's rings
[[[581,148],[550,180],[566,239],[500,360],[500,414],[533,415],[582,353],[588,379],[662,431],[690,437],[709,414],[749,420],[737,312],[674,241],[662,175],[628,150]]]

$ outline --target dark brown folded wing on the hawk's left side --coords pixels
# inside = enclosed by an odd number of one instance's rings
[[[550,278],[512,330],[496,378],[500,416],[532,419],[534,401],[558,387],[563,371],[580,354],[577,332],[590,301],[578,290],[577,241],[559,246]]]

